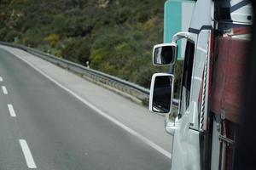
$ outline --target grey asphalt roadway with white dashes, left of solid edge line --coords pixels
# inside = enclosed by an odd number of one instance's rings
[[[3,49],[0,86],[1,170],[170,168],[170,158]]]

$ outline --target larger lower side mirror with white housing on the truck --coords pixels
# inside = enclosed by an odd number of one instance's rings
[[[170,115],[172,111],[174,77],[169,73],[155,73],[151,80],[149,111]]]

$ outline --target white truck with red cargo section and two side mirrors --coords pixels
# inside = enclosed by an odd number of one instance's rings
[[[165,116],[172,170],[230,170],[236,155],[241,94],[253,8],[247,0],[198,0],[189,29],[153,48],[150,112]],[[175,20],[173,20],[175,22]],[[172,111],[178,41],[185,40],[177,113]]]

